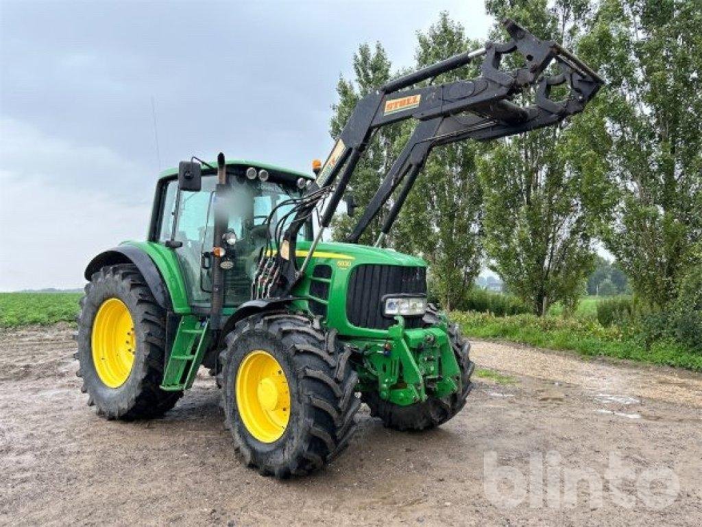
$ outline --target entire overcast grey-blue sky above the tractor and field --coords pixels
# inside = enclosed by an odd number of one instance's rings
[[[179,160],[308,170],[357,46],[410,66],[442,10],[486,37],[482,0],[0,1],[0,291],[81,287]]]

